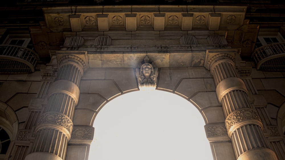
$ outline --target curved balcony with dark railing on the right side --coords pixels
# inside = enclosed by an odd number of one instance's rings
[[[253,51],[256,69],[265,71],[285,71],[285,43],[272,43]]]

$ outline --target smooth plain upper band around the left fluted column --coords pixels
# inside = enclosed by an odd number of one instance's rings
[[[56,93],[63,93],[69,95],[70,97],[72,97],[72,99],[74,99],[75,105],[77,105],[80,91],[75,83],[64,79],[55,81],[54,83],[52,83],[52,86],[50,87],[50,90],[48,92],[48,99],[52,94]]]

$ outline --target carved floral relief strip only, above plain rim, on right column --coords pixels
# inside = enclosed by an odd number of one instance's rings
[[[229,130],[233,125],[243,120],[257,120],[261,122],[257,112],[251,109],[238,110],[227,116],[225,126]]]

